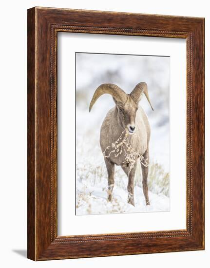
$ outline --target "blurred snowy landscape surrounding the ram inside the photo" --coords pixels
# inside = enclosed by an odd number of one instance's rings
[[[137,75],[136,66],[138,66],[137,63],[139,63],[139,59],[140,58],[138,58],[138,62],[136,62],[135,58],[133,57],[131,62],[129,62],[130,68],[127,65],[127,69],[125,68],[126,70],[130,70],[131,73],[132,68],[134,68],[135,76]],[[119,81],[121,81],[121,83],[127,83],[127,86],[131,84],[131,81],[128,79],[128,77],[124,77],[124,65],[119,67],[119,64],[128,63],[122,59],[117,61],[115,58],[115,64],[112,66],[114,69],[111,70],[111,75],[109,73],[110,60],[110,57],[108,59],[104,57],[103,68],[100,68],[100,66],[96,68],[95,65],[97,65],[97,57],[95,55],[94,58],[92,58],[91,55],[79,55],[77,59],[76,214],[84,215],[169,211],[169,62],[166,61],[165,58],[160,58],[159,61],[157,59],[154,60],[153,57],[148,57],[147,61],[145,61],[144,58],[144,67],[146,66],[147,68],[145,69],[148,69],[147,72],[145,72],[145,75],[143,73],[142,66],[139,65],[141,68],[138,66],[139,71],[141,71],[141,74],[143,74],[143,77],[142,79],[138,78],[136,81],[145,81],[149,85],[153,85],[149,87],[149,94],[153,103],[154,112],[151,111],[148,102],[145,100],[145,98],[143,98],[141,105],[146,111],[151,125],[150,166],[148,176],[149,198],[151,205],[146,206],[145,204],[144,194],[141,187],[141,168],[140,165],[138,165],[134,181],[134,207],[127,203],[128,178],[120,167],[115,168],[115,187],[113,190],[113,200],[111,202],[107,200],[108,178],[104,159],[99,146],[99,133],[104,117],[109,109],[115,105],[112,97],[109,95],[101,96],[95,103],[91,113],[88,111],[89,103],[95,92],[95,88],[101,83],[112,82],[118,84]],[[98,64],[102,62],[101,58],[98,62]],[[148,63],[148,65],[145,62]],[[93,71],[92,73],[91,70]],[[119,70],[119,72],[116,73],[116,70]],[[160,70],[162,70],[162,72],[160,72]],[[149,74],[153,74],[152,78],[149,76]],[[157,83],[159,81],[158,75],[160,74],[162,77],[164,77],[165,74],[165,84],[163,82],[162,84]],[[87,77],[89,77],[89,79],[86,79]],[[85,83],[84,81],[88,81],[88,83]],[[159,90],[159,88],[161,88],[161,90]],[[123,89],[125,88],[123,87]],[[132,89],[130,89],[130,91],[131,90]]]

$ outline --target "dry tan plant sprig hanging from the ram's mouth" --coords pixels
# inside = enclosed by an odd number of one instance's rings
[[[148,167],[149,163],[147,162],[147,159],[143,157],[143,155],[137,153],[134,148],[131,146],[129,140],[128,140],[128,131],[124,130],[119,138],[112,143],[112,145],[107,146],[103,152],[103,156],[105,158],[110,157],[111,154],[114,154],[115,157],[118,157],[119,154],[124,154],[125,161],[123,164],[129,165],[129,172],[134,168],[134,164],[136,161],[136,158],[139,157],[140,162],[143,166]]]

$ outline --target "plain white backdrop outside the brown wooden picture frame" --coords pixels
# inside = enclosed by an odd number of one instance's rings
[[[210,14],[200,0],[27,0],[1,3],[0,42],[0,264],[2,267],[209,267],[210,255],[210,80],[206,77],[206,250],[35,263],[26,259],[27,232],[27,8],[52,6],[206,18],[206,74],[210,73]]]

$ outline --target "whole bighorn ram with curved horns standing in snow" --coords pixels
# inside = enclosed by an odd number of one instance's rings
[[[108,172],[108,199],[112,200],[115,165],[118,165],[128,176],[128,203],[133,206],[134,176],[138,158],[141,162],[146,205],[150,205],[147,184],[150,124],[147,115],[138,104],[143,93],[151,105],[145,82],[137,84],[130,94],[126,94],[115,84],[102,84],[95,90],[89,108],[90,112],[101,95],[113,96],[116,105],[108,112],[100,129],[100,146]],[[152,105],[151,108],[153,109]]]

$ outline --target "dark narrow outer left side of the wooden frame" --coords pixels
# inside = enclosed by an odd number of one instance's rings
[[[28,258],[35,259],[35,12],[28,10],[28,184],[27,184],[27,243]]]

